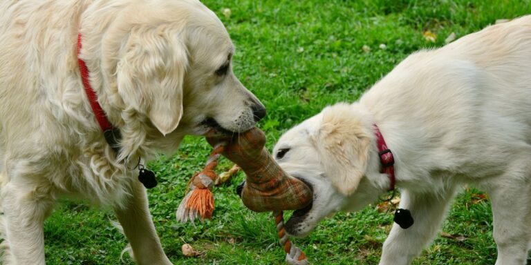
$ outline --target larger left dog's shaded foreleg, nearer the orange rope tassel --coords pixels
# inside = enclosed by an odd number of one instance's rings
[[[138,264],[171,264],[162,250],[149,213],[146,190],[140,181],[132,181],[131,196],[122,208],[115,208],[115,213]]]

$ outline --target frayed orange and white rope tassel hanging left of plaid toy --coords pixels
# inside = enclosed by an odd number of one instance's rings
[[[218,159],[221,157],[223,150],[225,150],[223,143],[214,146],[205,168],[201,172],[195,173],[194,177],[188,182],[187,195],[180,202],[179,208],[177,208],[176,216],[179,222],[185,223],[189,220],[194,223],[198,218],[201,218],[201,222],[203,222],[204,219],[212,218],[212,213],[214,213],[212,188],[218,177],[214,169],[218,166]]]

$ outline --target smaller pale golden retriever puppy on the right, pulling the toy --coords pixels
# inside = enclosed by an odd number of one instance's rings
[[[496,265],[525,264],[531,243],[531,16],[489,26],[404,59],[353,104],[288,130],[279,165],[313,186],[310,208],[286,222],[310,233],[324,217],[357,210],[393,187],[377,128],[394,157],[400,208],[380,264],[410,264],[436,236],[462,184],[492,200]],[[380,153],[379,153],[380,152]],[[386,160],[389,161],[389,160]]]

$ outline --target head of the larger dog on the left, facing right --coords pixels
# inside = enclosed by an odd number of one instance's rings
[[[241,133],[264,117],[232,72],[234,44],[214,12],[195,0],[119,2],[88,8],[82,57],[120,129],[136,123],[165,148],[212,129]]]

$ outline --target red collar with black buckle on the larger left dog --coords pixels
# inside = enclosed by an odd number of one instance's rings
[[[80,58],[81,52],[81,33],[77,34],[77,62],[80,64],[81,78],[83,81],[83,86],[85,88],[86,96],[88,97],[88,102],[91,104],[92,111],[96,117],[97,123],[100,124],[104,137],[117,153],[118,153],[118,141],[120,141],[120,130],[114,128],[111,121],[107,119],[102,106],[97,102],[97,95],[91,87],[91,82],[88,79],[88,68],[86,67],[85,61]]]

